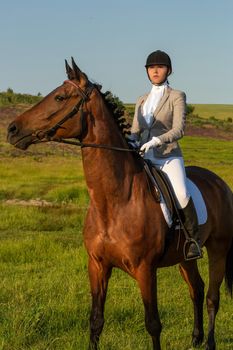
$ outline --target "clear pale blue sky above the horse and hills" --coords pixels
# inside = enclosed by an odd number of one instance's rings
[[[150,90],[154,50],[173,63],[188,103],[233,104],[232,0],[8,0],[0,12],[0,91],[46,95],[73,56],[123,102]]]

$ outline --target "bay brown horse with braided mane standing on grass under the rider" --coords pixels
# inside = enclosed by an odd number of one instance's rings
[[[145,325],[153,349],[160,350],[161,322],[157,308],[156,269],[179,263],[194,306],[192,343],[204,337],[204,283],[197,263],[184,261],[178,233],[167,247],[169,228],[159,203],[148,191],[139,156],[128,149],[125,137],[98,86],[93,85],[72,59],[66,62],[68,80],[9,125],[8,140],[21,149],[42,141],[78,138],[90,195],[84,225],[89,255],[92,293],[90,349],[97,349],[104,325],[104,304],[113,267],[136,279],[145,307]],[[101,145],[108,145],[107,147]],[[86,147],[84,147],[86,146]],[[107,148],[107,149],[106,149]],[[200,226],[202,244],[209,258],[209,316],[206,349],[215,349],[214,327],[219,308],[219,288],[225,276],[233,285],[233,194],[217,175],[199,167],[187,168],[188,176],[204,197],[208,220]],[[183,239],[182,239],[183,240]]]

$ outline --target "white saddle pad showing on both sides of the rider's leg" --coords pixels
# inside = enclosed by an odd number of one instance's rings
[[[194,184],[194,182],[192,182],[188,178],[187,178],[187,187],[188,187],[188,191],[193,199],[193,202],[194,202],[194,205],[196,208],[197,217],[198,217],[198,224],[203,225],[207,221],[207,209],[206,209],[206,205],[205,205],[204,199],[202,197],[201,191]],[[168,226],[171,227],[172,226],[171,213],[170,213],[169,209],[167,208],[167,205],[164,201],[162,194],[161,194],[160,206],[161,206],[164,218],[165,218]]]

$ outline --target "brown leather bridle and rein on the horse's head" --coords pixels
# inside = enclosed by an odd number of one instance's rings
[[[69,120],[70,118],[72,118],[75,114],[80,113],[80,118],[81,118],[81,125],[83,128],[83,118],[84,118],[84,113],[83,113],[83,106],[85,104],[85,102],[87,102],[88,100],[90,100],[90,95],[94,89],[94,85],[91,82],[88,82],[88,86],[86,91],[83,91],[83,89],[81,89],[77,84],[75,84],[72,80],[65,80],[64,83],[67,84],[71,84],[73,86],[76,87],[76,89],[78,90],[78,95],[81,96],[81,100],[79,100],[79,102],[72,108],[71,112],[69,112],[67,115],[65,115],[59,122],[57,122],[54,126],[52,126],[51,128],[47,129],[46,131],[43,130],[38,130],[35,132],[35,135],[37,137],[37,139],[40,142],[43,142],[43,139],[47,137],[46,141],[48,141],[48,139],[50,137],[52,137],[56,131],[62,127],[62,125]],[[59,143],[65,143],[65,144],[70,144],[70,145],[75,145],[75,146],[79,146],[81,148],[84,147],[92,147],[92,148],[103,148],[103,149],[108,149],[108,150],[114,150],[114,151],[123,151],[123,152],[138,152],[136,149],[130,149],[130,148],[121,148],[121,147],[115,147],[115,146],[111,146],[111,145],[105,145],[105,144],[96,144],[96,143],[85,143],[85,142],[81,142],[81,141],[76,141],[76,140],[66,140],[66,139],[56,139],[53,140],[55,142],[59,142]]]

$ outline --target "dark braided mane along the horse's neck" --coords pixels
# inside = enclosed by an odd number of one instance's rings
[[[112,112],[114,120],[118,128],[120,129],[122,135],[126,137],[130,134],[129,129],[131,125],[126,120],[126,111],[123,102],[115,95],[111,93],[111,91],[101,92],[101,86],[98,84],[94,84],[95,87],[99,90],[101,96],[103,97],[108,109]]]

